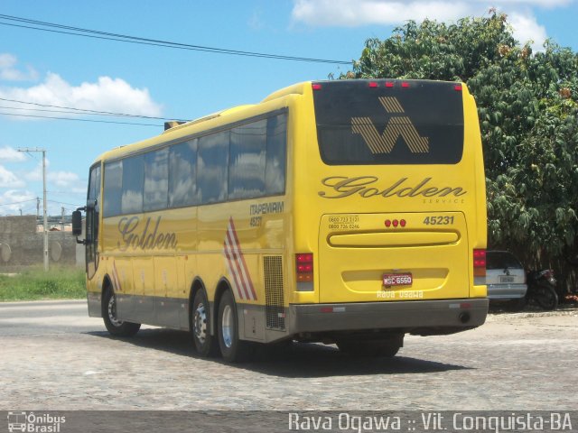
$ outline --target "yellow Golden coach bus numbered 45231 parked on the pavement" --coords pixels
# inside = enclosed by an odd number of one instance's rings
[[[89,315],[115,336],[182,329],[228,362],[291,340],[393,356],[487,315],[461,83],[304,82],[173,125],[98,157],[83,210]]]

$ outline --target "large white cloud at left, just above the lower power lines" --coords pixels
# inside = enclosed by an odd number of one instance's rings
[[[162,112],[162,107],[153,101],[147,88],[133,88],[121,78],[99,77],[95,83],[84,82],[79,86],[72,86],[58,74],[48,73],[37,86],[0,88],[0,97],[45,106],[71,106],[131,115],[159,116]],[[13,105],[31,108],[30,105]],[[19,110],[14,113],[32,112]]]

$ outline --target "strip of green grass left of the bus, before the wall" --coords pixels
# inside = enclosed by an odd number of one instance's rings
[[[30,267],[13,276],[0,274],[0,301],[84,298],[84,269]]]

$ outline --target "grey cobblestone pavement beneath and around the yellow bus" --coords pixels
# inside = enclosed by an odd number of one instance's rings
[[[86,302],[0,304],[0,410],[573,410],[578,311],[407,336],[393,359],[294,345],[228,365],[186,333],[108,336]]]

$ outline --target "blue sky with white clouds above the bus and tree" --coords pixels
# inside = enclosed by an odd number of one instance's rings
[[[326,60],[359,59],[369,37],[387,38],[408,19],[454,22],[495,6],[519,40],[545,38],[578,51],[578,0],[0,0],[0,14],[102,32]],[[163,121],[88,117],[23,108],[67,106],[193,119],[255,103],[278,88],[339,75],[348,66],[257,59],[103,41],[2,25],[0,19],[0,216],[35,214],[47,150],[49,213],[81,206],[89,165],[101,152],[160,134]],[[10,107],[10,108],[6,108]],[[14,108],[20,108],[18,110]],[[10,116],[52,115],[140,122],[99,124]],[[41,210],[42,212],[42,210]]]

